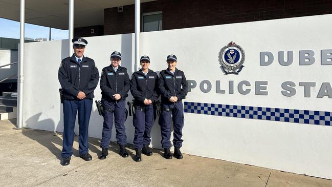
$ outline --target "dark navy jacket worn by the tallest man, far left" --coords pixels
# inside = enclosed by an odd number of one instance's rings
[[[78,65],[75,56],[64,58],[61,61],[58,78],[63,90],[64,99],[77,99],[79,91],[85,93],[85,98],[94,98],[94,90],[99,81],[98,69],[95,61],[83,56]]]

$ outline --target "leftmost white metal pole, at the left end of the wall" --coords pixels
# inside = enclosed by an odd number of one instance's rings
[[[17,128],[23,127],[23,82],[24,82],[24,23],[25,0],[20,0],[19,18],[19,64],[18,64],[18,98],[17,98]]]

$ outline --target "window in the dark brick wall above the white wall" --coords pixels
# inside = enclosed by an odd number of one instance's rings
[[[142,14],[142,32],[161,31],[163,23],[163,13],[150,12]]]

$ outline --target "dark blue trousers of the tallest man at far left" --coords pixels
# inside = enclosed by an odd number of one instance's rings
[[[70,157],[73,155],[74,128],[76,114],[78,111],[78,153],[80,155],[88,152],[88,124],[92,109],[92,99],[64,100],[63,101],[63,143],[61,156]]]

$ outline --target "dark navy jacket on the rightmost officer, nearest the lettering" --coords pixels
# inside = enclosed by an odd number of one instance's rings
[[[178,101],[185,99],[188,93],[187,79],[183,71],[175,68],[174,75],[167,69],[159,74],[158,88],[163,103],[169,101],[171,96],[178,97]]]

